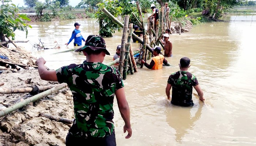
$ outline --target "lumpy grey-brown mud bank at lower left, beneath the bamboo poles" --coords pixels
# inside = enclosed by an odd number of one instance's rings
[[[27,79],[31,81],[26,83]],[[38,70],[20,70],[18,73],[0,74],[0,88],[22,88],[31,85],[52,85],[57,82],[41,80]],[[0,104],[10,107],[30,93],[1,94]],[[72,93],[68,88],[43,97],[19,110],[1,117],[0,146],[65,146],[65,137],[71,124],[56,122],[39,116],[49,114],[56,117],[74,119]]]

